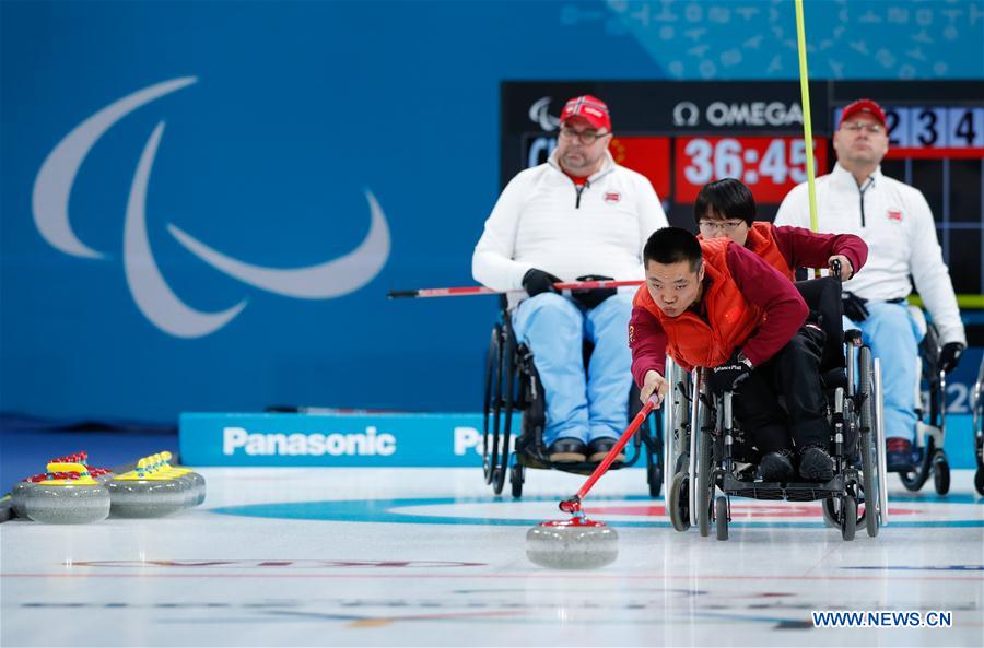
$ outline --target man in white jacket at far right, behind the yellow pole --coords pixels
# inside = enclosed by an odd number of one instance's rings
[[[941,369],[957,366],[967,334],[929,204],[918,189],[881,173],[888,145],[877,103],[845,106],[834,133],[837,164],[817,178],[817,212],[820,232],[856,234],[868,244],[864,270],[844,283],[845,315],[881,360],[888,468],[907,471],[915,459],[915,357],[922,337],[905,304],[910,275],[939,329]],[[807,191],[804,184],[786,196],[776,225],[810,226]]]

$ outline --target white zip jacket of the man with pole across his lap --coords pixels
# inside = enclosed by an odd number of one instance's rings
[[[563,281],[585,274],[642,281],[642,248],[667,225],[649,180],[609,153],[579,192],[551,155],[503,189],[475,247],[471,273],[497,291],[522,288],[530,268]]]

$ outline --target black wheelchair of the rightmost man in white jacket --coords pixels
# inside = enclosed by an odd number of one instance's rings
[[[947,378],[939,369],[942,345],[936,326],[916,306],[909,307],[916,328],[923,333],[919,342],[919,384],[916,387],[916,438],[913,445],[915,462],[912,470],[900,472],[902,484],[910,491],[918,491],[933,476],[933,485],[939,495],[950,492],[950,462],[944,451],[947,423]]]

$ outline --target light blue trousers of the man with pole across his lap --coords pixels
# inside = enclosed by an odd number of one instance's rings
[[[561,437],[589,443],[618,437],[629,423],[632,294],[618,294],[587,310],[573,299],[541,293],[513,311],[516,340],[526,343],[543,384],[543,441]],[[595,350],[584,370],[583,341]]]

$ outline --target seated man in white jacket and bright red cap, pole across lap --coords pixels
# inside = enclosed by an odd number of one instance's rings
[[[511,304],[511,315],[543,384],[548,459],[600,461],[628,424],[634,291],[570,298],[552,283],[585,276],[642,281],[642,248],[668,223],[649,180],[616,164],[608,152],[611,120],[602,102],[571,99],[561,120],[550,160],[520,172],[503,190],[471,268],[485,286],[528,293]],[[594,343],[587,376],[585,339]]]

